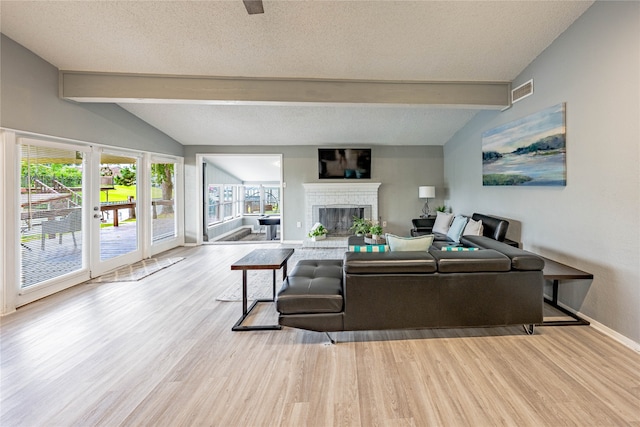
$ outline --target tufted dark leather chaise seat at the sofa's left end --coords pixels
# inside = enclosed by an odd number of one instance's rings
[[[280,314],[340,313],[342,305],[342,260],[299,261],[276,299]]]

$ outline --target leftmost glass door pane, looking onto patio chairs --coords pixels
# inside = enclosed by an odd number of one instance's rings
[[[20,289],[87,269],[84,218],[87,149],[21,138]]]

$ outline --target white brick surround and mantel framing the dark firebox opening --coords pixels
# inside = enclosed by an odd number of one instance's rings
[[[380,182],[303,183],[305,229],[313,226],[313,206],[361,205],[371,206],[371,219],[378,219],[378,188]]]

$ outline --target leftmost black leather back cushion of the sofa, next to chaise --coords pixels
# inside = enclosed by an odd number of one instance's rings
[[[436,261],[427,251],[416,252],[347,252],[346,274],[435,273]]]

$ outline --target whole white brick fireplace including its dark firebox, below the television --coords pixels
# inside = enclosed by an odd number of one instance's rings
[[[348,236],[353,216],[378,220],[379,182],[304,183],[305,227],[310,230],[316,222],[329,229],[330,236]],[[321,209],[322,208],[322,209]],[[324,210],[320,220],[320,211]],[[335,225],[325,221],[335,221]],[[334,228],[334,230],[329,227]]]

